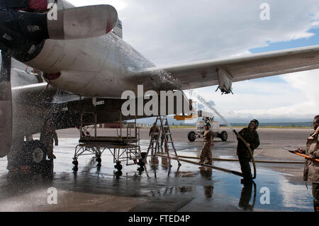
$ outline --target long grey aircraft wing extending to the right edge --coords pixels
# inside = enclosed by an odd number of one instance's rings
[[[134,71],[133,77],[147,88],[156,86],[158,79],[155,75],[161,75],[164,79],[172,79],[169,76],[174,77],[180,82],[182,89],[219,85],[222,91],[230,92],[233,81],[318,68],[319,45],[316,45],[168,67],[150,67]]]

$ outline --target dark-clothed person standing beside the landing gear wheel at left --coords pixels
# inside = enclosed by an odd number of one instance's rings
[[[55,126],[51,123],[50,119],[45,121],[45,125],[41,129],[40,133],[40,142],[45,145],[47,149],[47,157],[49,159],[55,159],[55,155],[53,154],[53,141],[55,142],[55,146],[58,145],[57,140],[57,132],[55,132]]]

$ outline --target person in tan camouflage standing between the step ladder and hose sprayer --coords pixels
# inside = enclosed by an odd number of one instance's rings
[[[205,161],[205,159],[207,159],[205,164],[211,165],[213,162],[213,157],[211,155],[211,147],[214,146],[213,132],[210,130],[211,124],[205,123],[204,127],[206,131],[204,132],[204,142],[203,147],[201,148],[201,154],[199,155],[200,160],[198,163],[202,164]]]

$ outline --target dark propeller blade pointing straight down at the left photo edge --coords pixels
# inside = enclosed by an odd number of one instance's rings
[[[12,145],[12,94],[11,94],[11,54],[1,51],[0,74],[0,157],[5,157]]]

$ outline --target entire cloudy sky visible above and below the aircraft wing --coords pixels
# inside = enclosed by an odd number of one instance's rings
[[[124,40],[157,65],[319,45],[318,0],[69,0],[76,6],[111,4],[123,21]],[[262,3],[270,20],[262,21]],[[319,70],[196,89],[233,122],[258,118],[310,121],[319,114]]]

